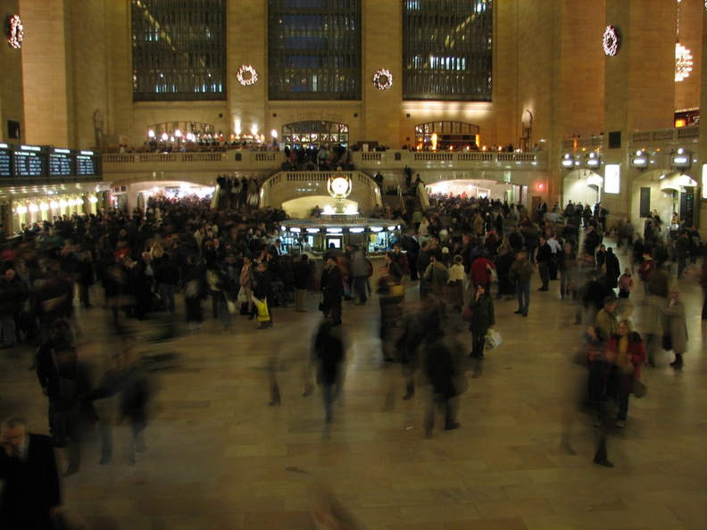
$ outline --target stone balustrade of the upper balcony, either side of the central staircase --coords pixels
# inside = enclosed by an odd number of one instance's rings
[[[627,151],[636,149],[670,149],[684,147],[695,151],[699,142],[698,125],[683,128],[635,131],[625,143]],[[562,142],[561,153],[592,151],[604,145],[604,136],[568,138]],[[628,153],[627,153],[628,154]],[[560,157],[549,160],[548,153],[505,152],[416,152],[372,151],[353,152],[353,167],[369,176],[376,172],[400,171],[405,167],[415,172],[439,172],[446,178],[491,178],[510,181],[518,177],[546,172],[559,166]],[[204,153],[105,153],[104,181],[131,182],[187,180],[212,183],[221,174],[269,178],[282,170],[284,154],[279,151],[229,150]],[[424,178],[424,177],[423,177]],[[522,178],[512,180],[522,181]],[[428,178],[426,180],[430,182]]]

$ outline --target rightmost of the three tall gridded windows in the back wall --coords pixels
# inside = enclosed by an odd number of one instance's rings
[[[403,99],[491,101],[492,7],[403,1]]]

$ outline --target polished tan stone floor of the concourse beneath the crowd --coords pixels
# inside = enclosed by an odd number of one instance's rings
[[[375,295],[366,306],[345,302],[345,393],[329,431],[320,394],[302,395],[304,360],[320,319],[316,294],[307,313],[276,309],[270,330],[256,331],[236,316],[231,335],[211,318],[188,334],[178,299],[183,333],[171,342],[150,340],[154,321],[131,322],[129,337],[116,339],[99,303],[78,308],[78,346],[87,362],[105,365],[128,346],[177,357],[151,365],[143,458],[133,462],[122,423],[112,462],[99,465],[98,435],[89,433],[79,474],[63,481],[65,506],[96,529],[703,529],[703,294],[694,277],[679,286],[688,309],[686,366],[670,369],[664,353],[646,372],[649,393],[632,398],[626,428],[609,435],[614,468],[592,463],[597,429],[577,406],[586,374],[571,362],[583,327],[574,325],[558,282],[539,293],[535,278],[528,319],[512,314],[515,302],[496,303],[505,342],[470,370],[477,377],[462,395],[461,428],[437,426],[431,439],[422,429],[424,393],[403,401],[401,365],[382,361]],[[416,299],[417,286],[406,296]],[[632,298],[622,312],[640,332],[641,286]],[[46,403],[28,371],[30,356],[29,349],[3,351],[0,412],[22,415],[30,430],[46,433]],[[281,404],[268,406],[273,374]],[[561,445],[563,434],[572,451]],[[312,506],[321,505],[337,506],[356,526],[317,526]]]

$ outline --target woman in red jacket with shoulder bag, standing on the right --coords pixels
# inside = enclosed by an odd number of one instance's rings
[[[648,357],[641,335],[631,329],[629,320],[619,322],[619,333],[611,336],[607,357],[613,365],[607,393],[616,397],[619,406],[616,426],[622,428],[626,425],[628,396],[633,393],[634,379],[641,378],[641,366]]]

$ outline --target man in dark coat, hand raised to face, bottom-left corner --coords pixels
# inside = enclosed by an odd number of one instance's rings
[[[27,434],[24,421],[9,418],[0,428],[0,445],[0,528],[53,529],[61,491],[52,440]]]

